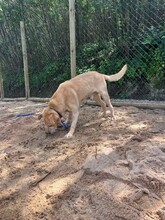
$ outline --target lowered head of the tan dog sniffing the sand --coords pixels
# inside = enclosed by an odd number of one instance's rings
[[[59,114],[49,107],[45,108],[38,116],[38,119],[41,118],[43,118],[45,123],[45,132],[50,134],[53,134],[56,131],[57,126],[61,121]]]

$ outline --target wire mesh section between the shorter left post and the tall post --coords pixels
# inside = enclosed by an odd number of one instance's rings
[[[24,21],[30,52],[31,96],[49,97],[69,77],[68,3],[24,4]]]

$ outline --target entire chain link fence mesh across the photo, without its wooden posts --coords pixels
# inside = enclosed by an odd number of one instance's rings
[[[77,0],[77,74],[113,74],[112,98],[165,100],[165,1]],[[20,21],[26,28],[30,95],[50,97],[70,78],[69,2],[0,1],[0,65],[5,97],[23,97]]]

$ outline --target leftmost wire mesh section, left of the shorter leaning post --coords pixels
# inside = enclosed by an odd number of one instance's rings
[[[13,2],[0,1],[0,74],[5,97],[25,95],[19,21]]]

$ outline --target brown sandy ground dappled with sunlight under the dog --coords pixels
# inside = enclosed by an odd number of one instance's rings
[[[165,110],[83,106],[73,139],[44,104],[0,102],[0,220],[165,220]]]

